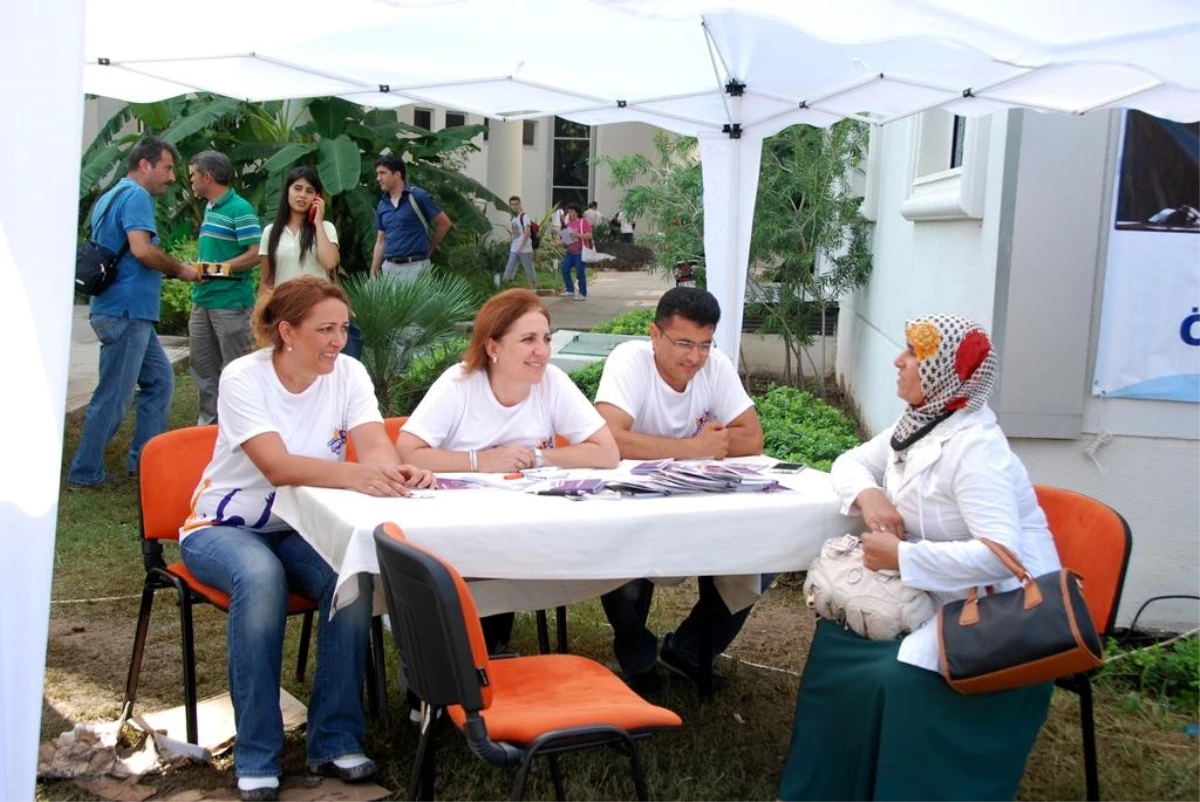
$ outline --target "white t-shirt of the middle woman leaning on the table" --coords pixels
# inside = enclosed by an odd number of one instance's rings
[[[487,371],[452,365],[433,383],[401,431],[432,448],[469,451],[493,445],[554,448],[554,435],[582,443],[604,418],[560,369],[546,365],[541,382],[520,403],[505,407],[492,393]]]

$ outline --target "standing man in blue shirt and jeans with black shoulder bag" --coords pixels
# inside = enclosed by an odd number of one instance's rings
[[[104,449],[125,419],[134,389],[137,424],[126,459],[131,475],[138,471],[145,442],[167,430],[175,373],[155,331],[162,277],[199,280],[193,268],[158,247],[152,196],[166,192],[175,180],[178,158],[179,151],[170,143],[157,137],[142,139],[130,151],[126,176],[92,209],[92,239],[121,252],[121,258],[115,281],[91,299],[91,328],[100,339],[100,381],[88,405],[79,449],[71,460],[67,486],[72,489],[113,483],[104,473]]]

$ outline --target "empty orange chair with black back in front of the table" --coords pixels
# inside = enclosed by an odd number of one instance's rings
[[[449,718],[475,755],[517,765],[512,800],[546,756],[559,801],[557,755],[601,744],[628,750],[638,800],[648,800],[636,738],[676,728],[679,717],[630,690],[595,660],[574,654],[490,659],[479,614],[452,565],[413,545],[395,523],[374,532],[392,636],[406,658],[409,688],[421,699],[421,740],[408,800],[433,798],[437,732]]]

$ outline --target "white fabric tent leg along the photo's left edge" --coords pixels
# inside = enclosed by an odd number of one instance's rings
[[[13,346],[0,393],[0,798],[31,800],[71,351],[84,2],[11,4],[5,17],[0,50],[23,77],[0,82],[0,319]]]

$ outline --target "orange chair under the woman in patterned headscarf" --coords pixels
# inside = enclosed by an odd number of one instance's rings
[[[1050,522],[1058,559],[1084,577],[1084,599],[1103,641],[1116,624],[1126,568],[1133,550],[1129,525],[1120,513],[1082,493],[1042,485],[1034,486],[1034,491]],[[1076,674],[1058,680],[1056,684],[1079,694],[1087,800],[1099,802],[1092,675]]]

